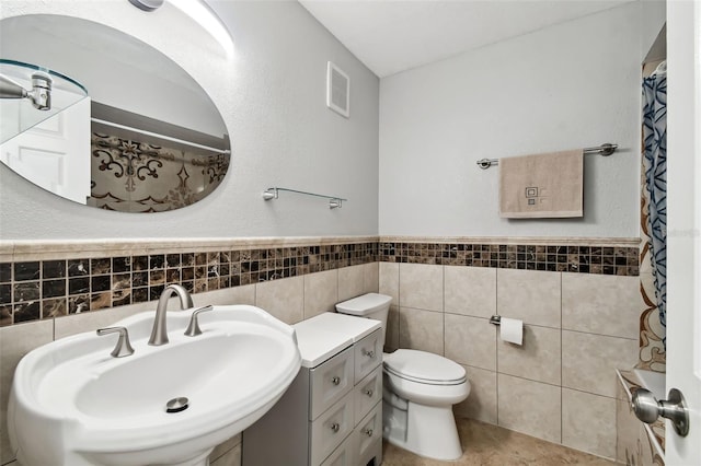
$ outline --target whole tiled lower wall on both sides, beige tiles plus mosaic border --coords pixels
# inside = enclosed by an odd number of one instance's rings
[[[613,369],[637,361],[636,243],[443,240],[3,245],[0,464],[12,459],[4,418],[21,357],[152,308],[171,282],[196,305],[254,304],[289,324],[365,292],[390,294],[388,347],[468,369],[459,415],[614,457]],[[487,322],[496,313],[525,321],[522,347],[498,339]],[[240,445],[227,445],[214,464],[237,464]]]

